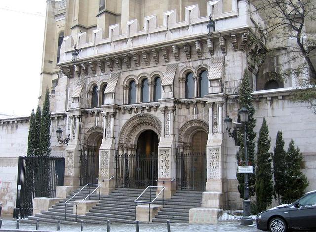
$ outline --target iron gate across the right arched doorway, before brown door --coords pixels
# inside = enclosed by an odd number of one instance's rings
[[[176,152],[177,190],[204,191],[206,153]]]

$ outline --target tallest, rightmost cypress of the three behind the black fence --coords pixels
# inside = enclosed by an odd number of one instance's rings
[[[43,112],[40,122],[40,155],[44,157],[49,157],[50,148],[50,102],[49,102],[49,90],[46,89],[45,101],[43,105]]]

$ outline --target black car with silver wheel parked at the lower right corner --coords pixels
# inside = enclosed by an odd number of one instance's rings
[[[290,229],[316,231],[316,190],[304,194],[292,204],[259,213],[256,224],[258,229],[271,232],[286,232]]]

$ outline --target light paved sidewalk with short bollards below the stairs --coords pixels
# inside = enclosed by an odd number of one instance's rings
[[[241,226],[240,221],[223,222],[216,225],[210,224],[188,224],[188,223],[171,223],[171,232],[260,232],[255,224],[251,226]],[[1,231],[5,229],[15,229],[16,221],[12,219],[4,219]],[[167,232],[167,224],[140,224],[139,232]],[[57,225],[42,224],[39,225],[40,231],[56,231]],[[80,223],[78,225],[61,225],[61,232],[79,232]],[[35,224],[20,223],[19,231],[35,231]],[[107,225],[84,225],[86,232],[106,232]],[[110,232],[136,232],[135,224],[111,224]]]

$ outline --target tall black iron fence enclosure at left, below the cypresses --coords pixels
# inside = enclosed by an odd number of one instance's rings
[[[32,215],[33,198],[55,197],[56,186],[64,185],[64,157],[20,156],[14,218]]]

